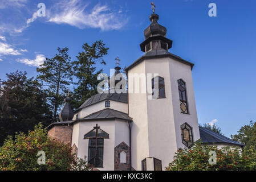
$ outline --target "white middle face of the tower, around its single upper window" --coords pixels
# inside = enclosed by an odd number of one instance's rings
[[[161,160],[162,169],[177,151],[169,61],[169,58],[145,60],[146,73],[158,73],[165,84],[165,98],[148,100],[149,157]]]

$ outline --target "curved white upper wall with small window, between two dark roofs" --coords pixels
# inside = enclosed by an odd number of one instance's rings
[[[84,118],[89,114],[95,113],[97,111],[100,111],[100,110],[103,110],[106,108],[115,109],[115,110],[121,111],[123,113],[128,112],[128,106],[126,103],[109,100],[110,107],[105,107],[105,101],[107,101],[107,100],[98,102],[98,103],[90,105],[88,107],[84,107],[82,110],[80,110],[78,112],[78,118]],[[73,120],[75,120],[75,119],[76,119],[76,114],[74,115]]]

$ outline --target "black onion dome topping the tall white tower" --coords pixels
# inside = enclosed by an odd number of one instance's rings
[[[149,16],[149,20],[152,23],[144,30],[145,39],[154,35],[166,36],[166,28],[157,23],[157,20],[159,20],[159,15],[153,13]]]

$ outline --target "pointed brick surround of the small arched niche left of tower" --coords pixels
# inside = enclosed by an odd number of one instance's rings
[[[121,151],[126,153],[126,163],[120,163]],[[115,147],[115,171],[129,171],[130,165],[130,147],[126,143],[121,142]]]

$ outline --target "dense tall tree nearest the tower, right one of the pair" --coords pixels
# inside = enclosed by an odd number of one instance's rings
[[[74,75],[78,78],[76,82],[77,88],[74,89],[74,100],[72,106],[78,109],[91,96],[97,93],[97,84],[100,81],[97,80],[97,75],[103,72],[103,69],[96,71],[96,62],[100,61],[100,64],[106,64],[103,60],[103,56],[107,55],[108,49],[102,40],[96,41],[91,46],[87,43],[83,44],[83,52],[79,52],[76,56],[77,60],[73,62]]]

